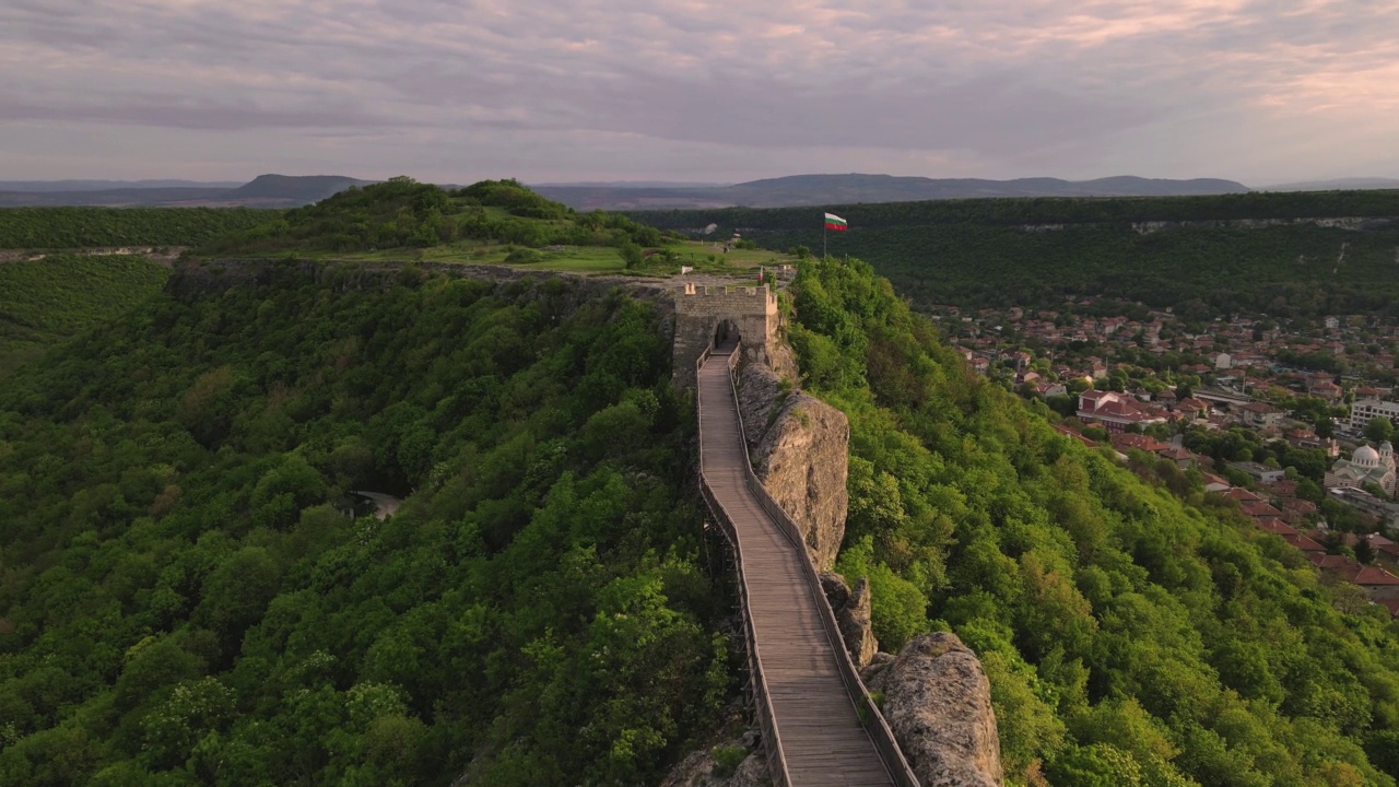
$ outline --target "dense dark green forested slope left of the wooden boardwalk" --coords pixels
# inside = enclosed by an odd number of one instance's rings
[[[0,784],[658,781],[733,685],[656,311],[277,270],[0,382]]]

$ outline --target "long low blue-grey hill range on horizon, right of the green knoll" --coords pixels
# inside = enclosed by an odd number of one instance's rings
[[[1130,175],[1094,181],[1059,178],[902,178],[894,175],[792,175],[732,186],[690,185],[547,185],[539,193],[575,210],[646,210],[686,207],[799,207],[811,204],[916,202],[965,197],[1039,196],[1200,196],[1244,193],[1248,186],[1217,178],[1170,181]]]

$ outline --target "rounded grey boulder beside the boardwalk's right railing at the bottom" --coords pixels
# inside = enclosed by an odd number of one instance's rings
[[[884,718],[923,787],[1000,786],[1000,737],[990,683],[956,634],[926,634],[866,671]]]

